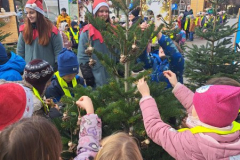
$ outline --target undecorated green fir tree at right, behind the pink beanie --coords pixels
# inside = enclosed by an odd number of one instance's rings
[[[213,16],[203,28],[196,29],[196,35],[207,40],[206,45],[193,45],[186,54],[185,77],[192,88],[204,85],[213,77],[230,77],[239,81],[240,53],[235,52],[231,35],[237,31],[236,25],[219,23],[217,8],[225,0],[209,0]]]

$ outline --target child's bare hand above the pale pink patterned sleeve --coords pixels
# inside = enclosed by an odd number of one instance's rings
[[[94,113],[92,100],[88,96],[80,97],[79,100],[76,102],[76,104],[77,104],[78,107],[80,107],[82,109],[85,109],[87,114]]]

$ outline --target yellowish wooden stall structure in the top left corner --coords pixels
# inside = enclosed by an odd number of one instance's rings
[[[17,20],[16,20],[16,12],[15,12],[15,6],[14,6],[14,0],[8,0],[9,1],[9,9],[10,12],[0,13],[0,21],[5,22],[6,25],[1,27],[0,30],[2,30],[5,33],[12,33],[9,37],[7,37],[3,42],[3,44],[6,43],[16,43],[18,41],[18,26],[17,26]]]

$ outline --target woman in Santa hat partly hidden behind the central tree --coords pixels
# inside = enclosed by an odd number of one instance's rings
[[[106,23],[110,23],[109,6],[105,0],[94,1],[93,14],[95,17],[102,18]],[[87,85],[98,87],[107,83],[108,74],[106,68],[103,67],[95,54],[92,55],[92,59],[96,63],[92,67],[89,66],[90,56],[85,53],[89,42],[97,52],[107,54],[110,58],[113,57],[107,49],[101,33],[91,24],[84,26],[78,44],[78,62]]]

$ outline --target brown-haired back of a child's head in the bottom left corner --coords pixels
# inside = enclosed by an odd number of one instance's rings
[[[0,160],[59,160],[61,151],[57,128],[43,117],[22,119],[0,133]]]

